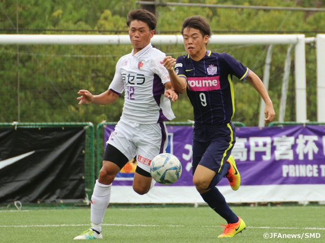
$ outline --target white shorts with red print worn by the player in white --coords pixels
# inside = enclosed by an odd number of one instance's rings
[[[106,144],[120,150],[128,160],[137,155],[137,165],[150,173],[151,160],[167,148],[167,134],[165,123],[139,124],[120,120]]]

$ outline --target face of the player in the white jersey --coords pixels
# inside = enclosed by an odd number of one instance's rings
[[[130,23],[128,34],[134,48],[134,53],[137,53],[150,43],[154,30],[150,30],[145,22],[134,20]]]

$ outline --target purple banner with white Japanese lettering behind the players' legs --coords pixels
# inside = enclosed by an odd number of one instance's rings
[[[105,126],[105,141],[115,126]],[[192,186],[192,127],[167,126],[167,151],[182,163],[182,176],[172,186]],[[232,155],[241,185],[325,184],[325,127],[317,125],[236,128]],[[105,145],[106,147],[106,145]],[[136,162],[128,163],[114,185],[132,185]],[[157,185],[157,184],[156,184]],[[228,185],[223,178],[218,185]]]

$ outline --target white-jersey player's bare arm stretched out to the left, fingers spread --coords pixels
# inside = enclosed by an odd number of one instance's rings
[[[88,90],[79,90],[78,95],[81,95],[77,98],[77,100],[79,100],[79,105],[82,103],[106,105],[113,103],[118,98],[118,94],[114,93],[111,90],[107,90],[100,95],[92,95]]]

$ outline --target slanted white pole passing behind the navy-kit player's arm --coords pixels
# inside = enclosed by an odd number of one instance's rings
[[[264,65],[264,74],[263,74],[263,84],[266,88],[266,91],[269,90],[269,79],[270,79],[270,68],[271,68],[271,59],[272,59],[272,52],[273,52],[273,45],[271,44],[268,48],[268,52],[266,54],[265,58],[265,65]],[[258,119],[258,127],[264,127],[265,126],[265,102],[261,97],[261,105],[259,108],[259,119]]]

